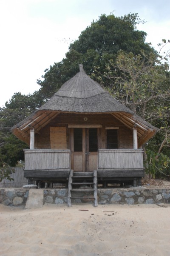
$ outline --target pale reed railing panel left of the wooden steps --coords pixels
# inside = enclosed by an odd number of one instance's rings
[[[70,150],[25,150],[25,170],[70,170]]]

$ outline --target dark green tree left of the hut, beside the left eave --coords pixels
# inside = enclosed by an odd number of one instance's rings
[[[42,102],[36,92],[28,95],[15,93],[5,107],[0,108],[0,166],[4,163],[15,166],[18,160],[24,160],[23,149],[28,145],[17,139],[10,130],[39,108]]]

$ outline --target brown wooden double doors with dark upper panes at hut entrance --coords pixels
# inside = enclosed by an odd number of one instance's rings
[[[97,128],[74,128],[71,139],[71,165],[74,171],[97,169]]]

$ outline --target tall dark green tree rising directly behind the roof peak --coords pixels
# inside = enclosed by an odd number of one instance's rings
[[[99,67],[103,74],[107,71],[106,64],[111,59],[116,60],[120,49],[127,53],[133,51],[134,54],[139,54],[141,49],[153,52],[153,48],[145,43],[147,34],[136,29],[139,23],[143,21],[138,14],[124,17],[102,14],[99,20],[93,21],[91,26],[82,31],[79,39],[71,43],[65,58],[45,69],[42,80],[37,80],[44,97],[51,97],[64,82],[73,77],[79,71],[80,63],[86,74],[100,81],[100,77],[94,76],[94,66]]]

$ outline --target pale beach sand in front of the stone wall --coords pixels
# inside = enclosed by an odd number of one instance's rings
[[[170,205],[0,205],[1,256],[169,256]]]

